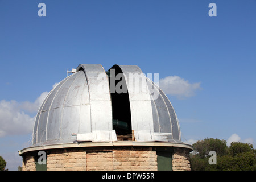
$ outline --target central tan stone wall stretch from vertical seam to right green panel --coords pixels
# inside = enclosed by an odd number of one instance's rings
[[[87,170],[157,170],[152,147],[121,147],[107,151],[87,151]]]

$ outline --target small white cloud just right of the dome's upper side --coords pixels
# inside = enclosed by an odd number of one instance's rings
[[[164,93],[180,99],[194,96],[195,91],[201,89],[200,84],[200,82],[191,84],[179,76],[167,76],[159,80],[159,87]]]

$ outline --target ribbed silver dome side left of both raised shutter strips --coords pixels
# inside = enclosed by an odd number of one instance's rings
[[[82,123],[84,121],[80,122],[80,106],[86,104],[82,101],[89,100],[86,87],[85,73],[81,71],[65,78],[51,90],[36,117],[33,144],[48,143],[47,141],[54,140],[55,143],[62,143],[66,139],[76,139],[71,137],[71,133],[67,133],[70,130],[72,130],[71,132],[77,132],[80,123],[81,126],[84,126]],[[87,90],[87,93],[84,93],[84,89]],[[74,106],[77,106],[77,108],[74,108]],[[67,109],[68,107],[71,109]],[[90,107],[88,105],[83,107],[82,111],[89,114],[89,117],[86,116],[85,118],[90,118]],[[77,114],[78,119],[76,114],[73,115],[73,113]],[[71,115],[73,119],[70,119]],[[77,121],[74,122],[74,119],[77,119]],[[64,133],[65,137],[61,138],[61,133]]]

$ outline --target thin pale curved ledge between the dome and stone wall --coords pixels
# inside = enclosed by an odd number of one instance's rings
[[[170,142],[131,142],[131,141],[119,141],[119,142],[81,142],[81,143],[65,143],[65,144],[52,144],[45,146],[28,147],[19,151],[19,155],[23,155],[26,152],[49,150],[56,148],[74,148],[74,147],[111,147],[111,146],[151,146],[151,147],[180,147],[187,148],[193,151],[193,146],[185,143],[170,143]]]

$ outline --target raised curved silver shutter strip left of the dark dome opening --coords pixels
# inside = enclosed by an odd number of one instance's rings
[[[96,141],[111,140],[112,105],[108,76],[100,64],[80,64],[78,70],[85,72],[90,98],[90,120]]]

